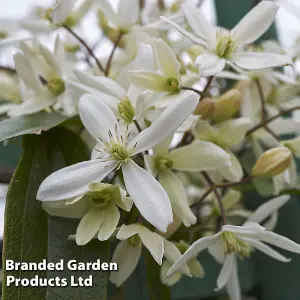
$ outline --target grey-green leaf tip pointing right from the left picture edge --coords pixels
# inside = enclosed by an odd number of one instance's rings
[[[0,142],[29,133],[40,133],[64,122],[67,117],[40,112],[34,115],[9,118],[0,122]]]

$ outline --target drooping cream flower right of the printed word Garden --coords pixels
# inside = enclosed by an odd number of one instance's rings
[[[117,239],[121,242],[115,249],[112,261],[118,264],[118,271],[112,272],[109,278],[116,286],[122,285],[135,270],[142,254],[142,245],[149,250],[159,265],[162,264],[163,239],[145,226],[141,224],[122,225],[117,234]]]

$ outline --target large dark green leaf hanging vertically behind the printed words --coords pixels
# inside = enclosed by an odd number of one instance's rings
[[[89,151],[78,135],[64,127],[53,128],[40,135],[24,136],[23,155],[7,199],[4,260],[39,262],[47,258],[48,252],[49,261],[64,259],[67,263],[75,259],[78,262],[93,262],[100,259],[108,262],[107,243],[93,241],[85,247],[77,246],[74,241],[68,240],[68,236],[75,233],[78,220],[47,217],[36,200],[38,187],[46,176],[88,157]],[[6,272],[5,277],[10,274],[22,278],[34,275],[30,272]],[[94,282],[88,288],[6,288],[4,283],[3,300],[106,299],[108,273],[81,271],[75,275],[87,277],[89,274],[94,275]],[[38,275],[46,276],[42,272]],[[48,277],[52,276],[66,277],[70,282],[71,272],[67,269],[59,273],[48,272]]]

